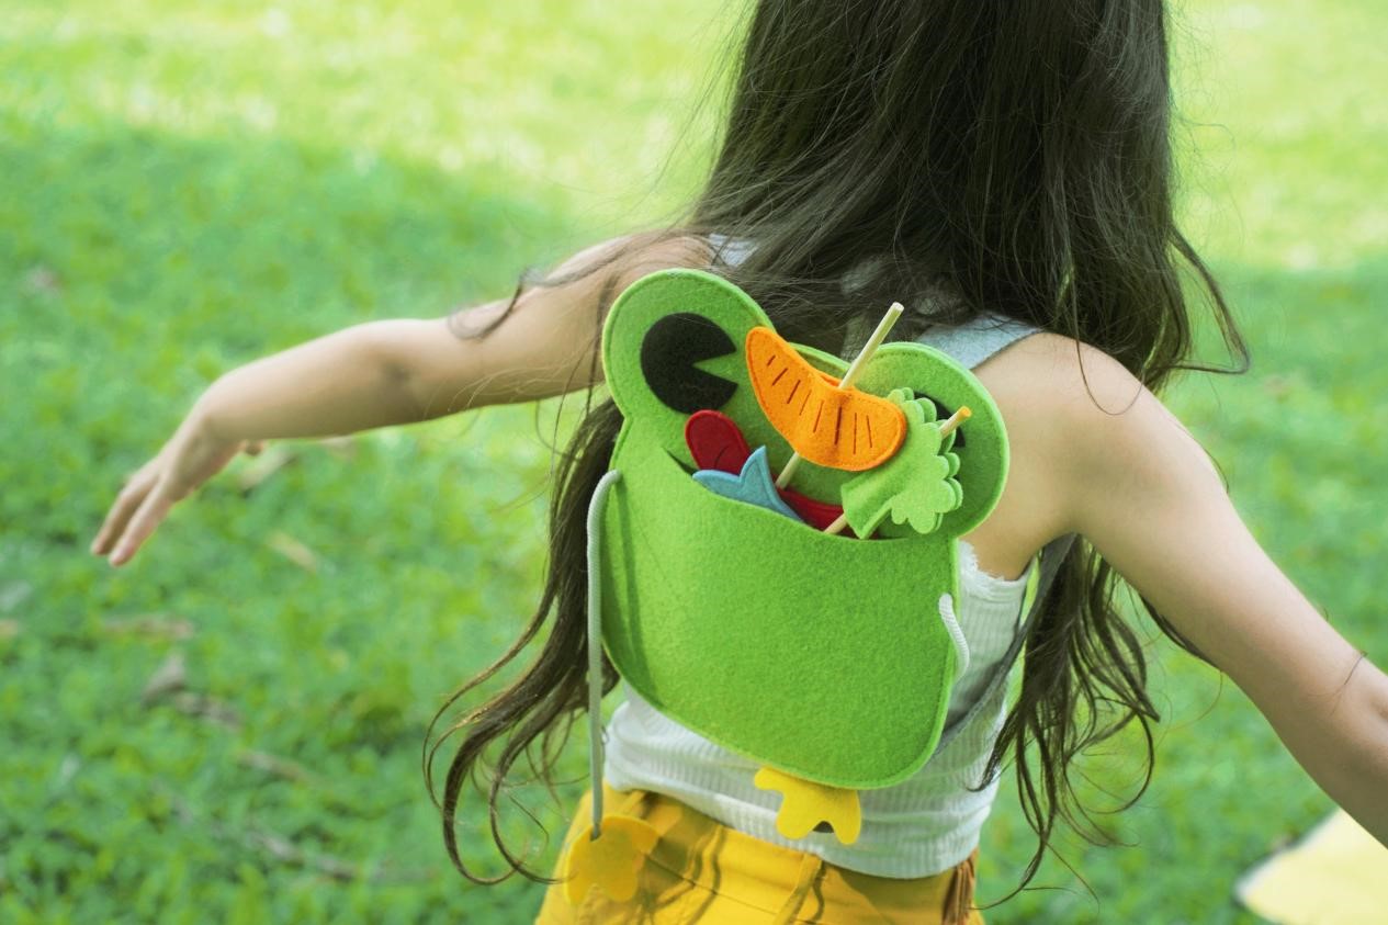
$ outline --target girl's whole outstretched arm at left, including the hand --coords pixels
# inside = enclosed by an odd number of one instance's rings
[[[706,260],[693,240],[619,239],[565,261],[558,275],[598,269],[529,289],[484,338],[465,335],[500,317],[507,301],[433,321],[357,325],[233,369],[126,481],[92,551],[108,554],[112,565],[129,561],[176,501],[268,438],[351,433],[590,386],[601,376],[602,296],[611,299],[652,269]]]

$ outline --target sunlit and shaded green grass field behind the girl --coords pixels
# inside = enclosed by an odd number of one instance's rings
[[[701,151],[665,156],[701,124],[726,28],[709,6],[6,4],[0,921],[530,919],[537,888],[448,868],[419,744],[533,607],[552,404],[282,446],[129,568],[85,550],[219,372],[494,297],[675,206]],[[1273,557],[1384,664],[1388,61],[1364,25],[1382,12],[1176,18],[1184,212],[1255,365],[1170,404]],[[1051,889],[991,922],[1256,921],[1235,878],[1328,811],[1231,683],[1152,651],[1156,779],[1110,819],[1130,847],[1063,844],[1088,889],[1051,861]],[[577,778],[579,742],[569,757]],[[1091,765],[1099,788],[1131,767]],[[568,806],[523,799],[559,829]],[[494,872],[475,810],[468,853]],[[1005,790],[981,901],[1030,849]]]

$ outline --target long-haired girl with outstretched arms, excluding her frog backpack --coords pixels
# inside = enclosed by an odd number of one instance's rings
[[[1070,760],[1156,718],[1140,640],[1112,606],[1117,576],[1388,840],[1388,679],[1269,561],[1156,399],[1173,371],[1202,368],[1187,364],[1183,269],[1246,362],[1171,217],[1165,29],[1160,0],[762,0],[718,157],[684,221],[579,253],[514,299],[361,325],[228,374],[130,476],[93,551],[129,561],[174,503],[264,439],[595,385],[607,308],[655,269],[712,269],[788,340],[844,357],[899,300],[908,311],[892,338],[972,365],[1010,442],[1002,497],[960,542],[956,610],[973,660],[949,721],[963,731],[911,781],[863,794],[855,844],[820,832],[790,840],[772,826],[773,797],[752,786],[751,762],[630,692],[607,733],[605,796],[651,822],[659,846],[633,900],[593,890],[573,904],[551,888],[541,921],[977,921],[973,857],[1004,761],[1040,836],[1026,881],[1056,821],[1083,821]],[[589,411],[557,471],[540,607],[454,697],[545,631],[520,679],[450,729],[462,740],[443,786],[444,838],[469,876],[451,824],[483,750],[501,744],[496,832],[516,760],[551,765],[551,733],[562,740],[586,704],[583,515],[619,425],[611,401]],[[1013,639],[1042,550],[1035,615]],[[1027,657],[1006,707],[1005,685],[988,682],[1005,676],[1015,642]],[[500,835],[497,844],[536,875]]]

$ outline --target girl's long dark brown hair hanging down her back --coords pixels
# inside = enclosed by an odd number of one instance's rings
[[[1153,392],[1177,369],[1242,372],[1244,340],[1173,218],[1166,35],[1162,0],[762,0],[745,25],[708,182],[666,236],[754,242],[745,260],[715,254],[713,267],[802,343],[840,349],[856,315],[899,300],[909,310],[894,336],[999,312],[1103,350]],[[615,274],[612,260],[593,269]],[[1183,278],[1209,306],[1234,368],[1188,362]],[[562,454],[540,608],[455,699],[515,658],[552,614],[537,661],[432,746],[465,733],[443,810],[450,856],[472,879],[452,819],[465,778],[496,740],[493,835],[512,871],[545,879],[502,844],[497,801],[522,756],[552,764],[555,731],[583,707],[582,521],[619,425],[611,403],[595,406]],[[1058,819],[1102,839],[1070,778],[1087,746],[1135,722],[1146,762],[1131,800],[1151,775],[1159,717],[1142,642],[1115,608],[1115,579],[1090,544],[1072,547],[988,762],[991,778],[1012,757],[1038,835],[1022,885]]]

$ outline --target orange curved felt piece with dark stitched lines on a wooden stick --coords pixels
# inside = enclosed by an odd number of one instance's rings
[[[811,462],[862,472],[891,458],[906,436],[901,408],[815,369],[775,331],[747,332],[747,371],[762,412]]]

